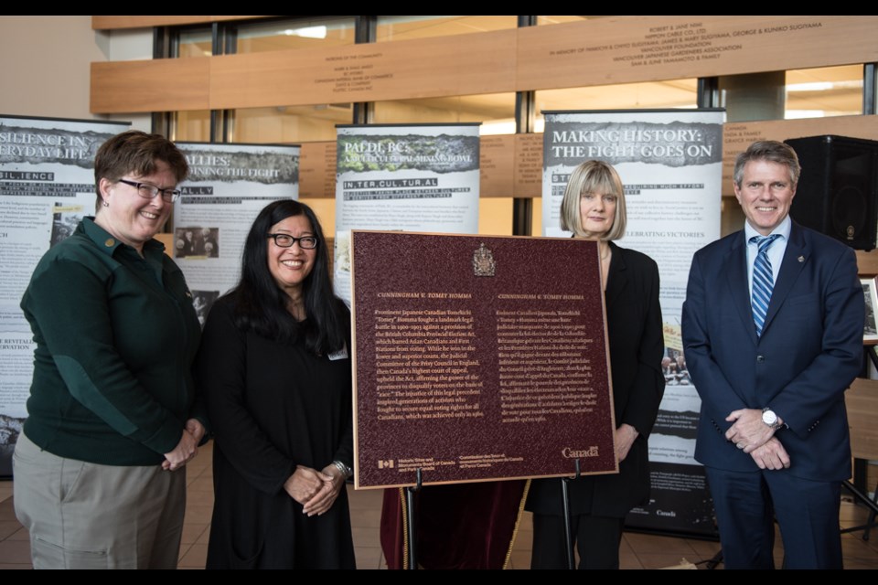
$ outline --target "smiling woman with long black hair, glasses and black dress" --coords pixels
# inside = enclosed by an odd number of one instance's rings
[[[216,438],[209,569],[354,568],[349,323],[311,208],[262,209],[196,361]]]

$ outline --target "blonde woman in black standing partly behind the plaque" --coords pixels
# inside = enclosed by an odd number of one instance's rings
[[[573,170],[561,227],[597,241],[601,254],[619,460],[618,474],[570,484],[573,539],[580,569],[618,569],[625,516],[648,500],[647,438],[665,388],[659,268],[646,254],[613,242],[625,235],[625,191],[616,169],[604,162]],[[533,512],[531,568],[566,568],[561,480],[533,481],[526,508]]]

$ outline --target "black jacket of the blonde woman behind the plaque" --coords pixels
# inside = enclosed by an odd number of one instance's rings
[[[624,517],[649,495],[647,439],[665,389],[659,267],[646,254],[610,242],[613,257],[605,291],[606,328],[616,427],[630,424],[639,435],[619,464],[619,473],[590,475],[572,482],[573,514]],[[530,485],[526,509],[562,514],[561,480],[540,479]]]

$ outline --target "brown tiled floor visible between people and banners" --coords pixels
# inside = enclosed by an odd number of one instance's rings
[[[213,505],[210,447],[202,449],[188,465],[188,495],[186,526],[180,548],[181,569],[203,569],[207,555],[210,511]],[[360,569],[383,569],[378,540],[381,514],[381,492],[375,490],[354,491],[348,486],[351,507],[351,523]],[[861,506],[842,502],[842,526],[862,524],[866,516]],[[527,569],[530,566],[532,540],[530,516],[526,515],[519,527],[510,560],[510,569]],[[869,541],[862,540],[862,533],[842,537],[846,569],[878,569],[878,531],[873,531]],[[775,549],[777,566],[783,558],[783,548]],[[620,549],[622,569],[659,569],[680,564],[684,559],[699,569],[719,550],[719,544],[690,538],[658,537],[626,533]],[[722,565],[720,565],[722,568]],[[18,524],[12,503],[12,482],[0,482],[0,569],[30,569],[30,547],[27,531]]]

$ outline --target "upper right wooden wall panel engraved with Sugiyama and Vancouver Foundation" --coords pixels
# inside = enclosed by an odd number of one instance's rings
[[[517,90],[878,60],[876,16],[616,16],[519,29]]]

